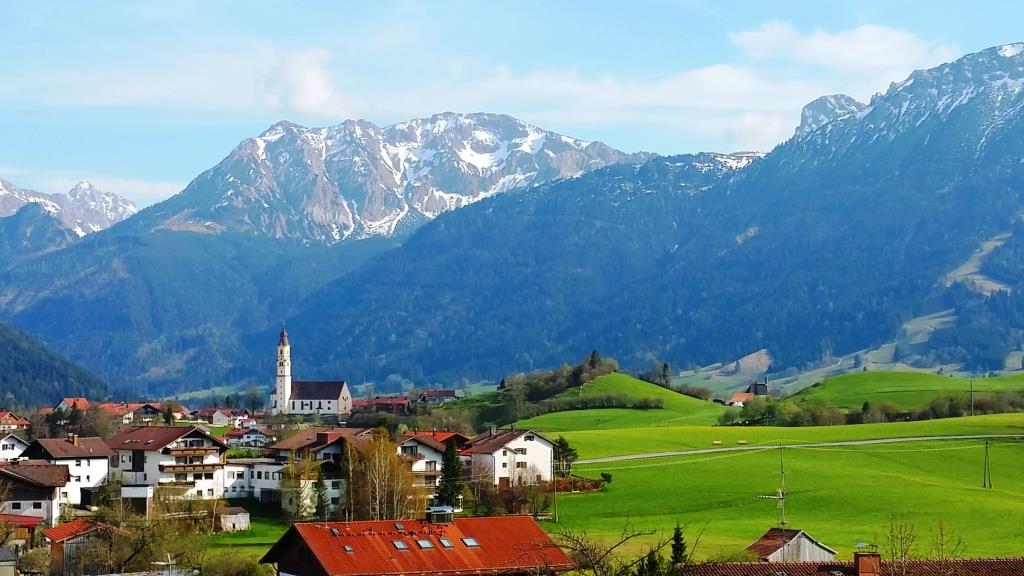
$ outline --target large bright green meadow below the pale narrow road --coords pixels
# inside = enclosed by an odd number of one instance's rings
[[[846,559],[857,542],[884,543],[892,511],[916,527],[921,553],[928,552],[930,534],[941,520],[963,534],[969,556],[1019,556],[1024,443],[992,445],[992,490],[981,487],[983,458],[984,446],[977,441],[790,448],[787,520]],[[688,527],[691,542],[706,527],[697,556],[709,558],[740,552],[777,522],[775,502],[758,496],[774,494],[779,485],[778,449],[578,468],[594,478],[610,472],[612,483],[605,492],[560,496],[560,524],[549,524],[551,531],[583,529],[612,540],[627,525],[668,536],[678,522]]]

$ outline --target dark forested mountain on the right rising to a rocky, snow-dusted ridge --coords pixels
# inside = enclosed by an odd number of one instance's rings
[[[915,354],[1001,367],[1024,341],[1022,47],[915,72],[862,108],[819,101],[801,137],[729,177],[654,159],[431,222],[307,300],[289,321],[296,362],[434,381],[593,347],[633,369],[766,348],[799,368],[957,306],[941,347]],[[1006,235],[984,272],[1010,291],[947,286]]]

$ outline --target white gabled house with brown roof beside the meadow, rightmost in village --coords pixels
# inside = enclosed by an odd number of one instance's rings
[[[548,482],[552,478],[554,444],[525,429],[497,429],[477,436],[463,451],[474,476],[485,475],[496,486]]]

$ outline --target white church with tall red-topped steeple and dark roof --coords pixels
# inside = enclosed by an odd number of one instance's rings
[[[338,416],[352,411],[352,394],[344,380],[292,380],[292,346],[288,331],[278,339],[278,378],[270,394],[270,414]]]

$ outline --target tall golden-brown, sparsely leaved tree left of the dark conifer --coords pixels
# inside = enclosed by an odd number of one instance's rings
[[[398,456],[398,445],[387,430],[374,430],[373,438],[350,450],[352,475],[349,483],[356,518],[393,520],[409,518],[422,508],[422,491],[413,486],[413,472]]]

